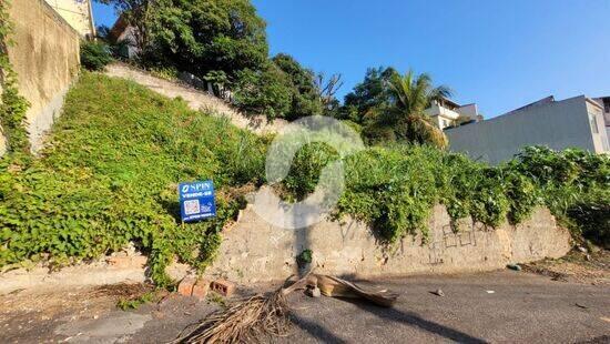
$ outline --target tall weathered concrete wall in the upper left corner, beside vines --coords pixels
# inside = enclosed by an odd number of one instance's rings
[[[9,17],[16,42],[9,60],[18,73],[20,94],[31,103],[27,120],[35,152],[78,75],[79,33],[42,0],[11,1]]]

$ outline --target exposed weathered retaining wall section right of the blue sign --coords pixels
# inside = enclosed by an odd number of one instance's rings
[[[464,220],[455,233],[444,206],[429,221],[427,243],[405,237],[390,250],[379,246],[363,223],[322,222],[308,230],[274,227],[250,208],[224,233],[217,260],[209,271],[237,282],[282,280],[297,272],[295,256],[314,253],[317,272],[357,277],[425,273],[462,273],[502,269],[508,263],[563,256],[570,234],[557,226],[546,209],[517,226],[487,229]]]

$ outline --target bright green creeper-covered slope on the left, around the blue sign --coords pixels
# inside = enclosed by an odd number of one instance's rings
[[[200,269],[241,200],[262,182],[265,145],[224,120],[135,83],[85,72],[67,98],[41,159],[0,159],[0,266],[95,259],[133,241],[154,281],[174,256]],[[213,179],[218,217],[182,225],[176,183]]]

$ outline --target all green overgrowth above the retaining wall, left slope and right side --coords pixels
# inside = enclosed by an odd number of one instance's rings
[[[83,73],[68,94],[51,145],[39,159],[0,159],[0,267],[24,261],[61,266],[134,242],[149,253],[154,281],[170,283],[174,257],[203,269],[224,223],[243,205],[240,188],[264,183],[268,140],[189,110],[184,101],[135,83]],[[313,191],[336,154],[302,149],[285,195]],[[370,223],[387,243],[426,233],[435,203],[454,219],[520,222],[546,204],[575,233],[608,244],[610,159],[530,148],[492,168],[430,146],[373,146],[347,158],[337,214]],[[213,179],[218,217],[182,225],[176,185]],[[251,188],[252,189],[252,188]]]

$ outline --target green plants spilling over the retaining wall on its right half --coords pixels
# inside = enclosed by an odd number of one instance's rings
[[[312,192],[322,168],[336,153],[317,144],[301,150],[285,190],[294,199]],[[579,150],[528,148],[499,166],[474,162],[426,145],[370,146],[346,159],[346,188],[336,209],[373,225],[395,243],[427,234],[433,206],[444,204],[454,220],[471,216],[489,226],[527,220],[538,205],[599,244],[608,245],[610,159]]]

